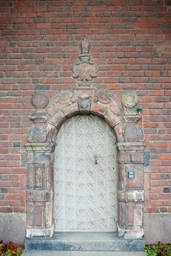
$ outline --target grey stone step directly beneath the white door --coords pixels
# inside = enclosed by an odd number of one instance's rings
[[[118,238],[117,233],[55,233],[52,238],[27,238],[28,250],[140,252],[144,239]]]

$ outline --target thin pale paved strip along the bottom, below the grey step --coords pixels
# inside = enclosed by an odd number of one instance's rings
[[[58,251],[26,251],[22,256],[146,256],[145,252],[58,252]]]

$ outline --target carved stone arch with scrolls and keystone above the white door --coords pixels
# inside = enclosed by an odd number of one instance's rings
[[[123,108],[113,91],[97,91],[85,87],[75,88],[72,91],[59,91],[50,101],[47,114],[48,141],[55,140],[56,132],[67,118],[80,114],[93,114],[104,118],[113,128],[118,142],[123,142]]]

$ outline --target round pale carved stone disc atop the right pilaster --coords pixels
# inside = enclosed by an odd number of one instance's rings
[[[122,95],[122,103],[126,108],[133,108],[138,102],[135,91],[126,91]]]

